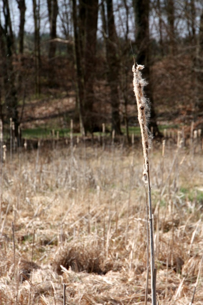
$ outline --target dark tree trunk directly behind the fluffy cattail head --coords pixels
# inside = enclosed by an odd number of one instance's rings
[[[144,65],[143,77],[148,82],[145,87],[146,96],[151,102],[151,115],[149,128],[153,128],[153,134],[158,135],[159,129],[156,123],[156,113],[153,106],[153,91],[151,85],[150,73],[150,40],[149,40],[149,0],[133,0],[133,9],[135,13],[135,44],[136,44],[136,62]]]

